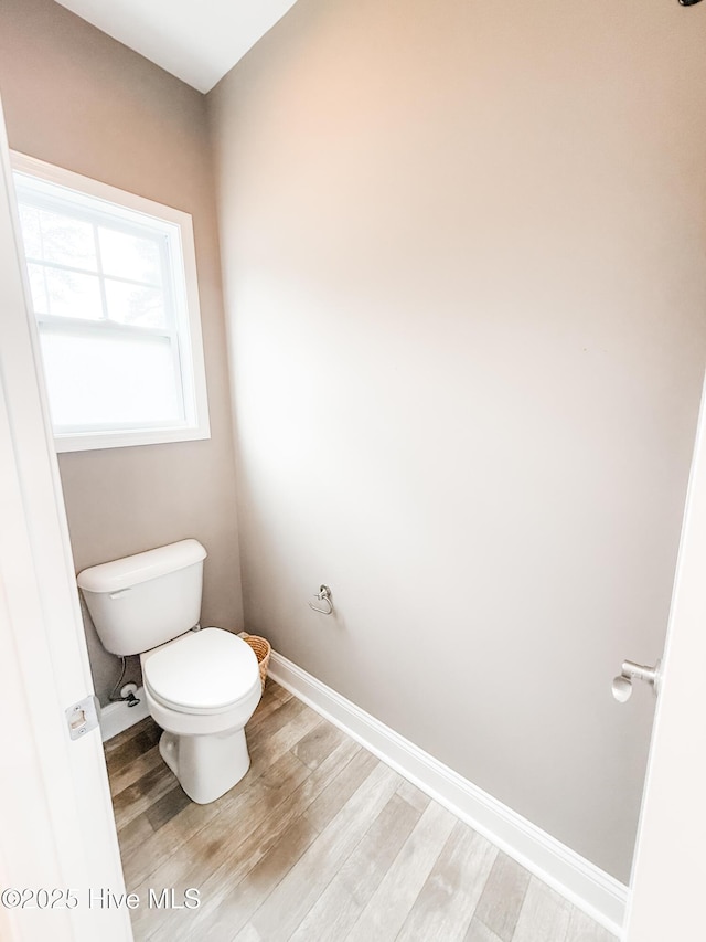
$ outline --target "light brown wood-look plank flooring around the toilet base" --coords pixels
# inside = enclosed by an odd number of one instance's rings
[[[213,804],[159,734],[148,718],[106,743],[137,942],[614,942],[271,679],[250,770]]]

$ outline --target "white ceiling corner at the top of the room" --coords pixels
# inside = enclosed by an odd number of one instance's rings
[[[56,0],[199,92],[208,92],[296,0]]]

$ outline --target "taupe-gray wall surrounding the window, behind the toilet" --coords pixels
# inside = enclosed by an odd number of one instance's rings
[[[203,622],[243,627],[233,427],[204,98],[53,0],[0,3],[10,146],[193,215],[212,437],[60,456],[76,570],[184,537],[208,550]],[[87,631],[105,702],[117,660]],[[132,667],[135,673],[135,666]]]

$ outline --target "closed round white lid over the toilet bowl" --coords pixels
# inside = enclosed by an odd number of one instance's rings
[[[222,628],[189,632],[147,654],[142,675],[150,691],[179,710],[218,710],[259,684],[253,648]]]

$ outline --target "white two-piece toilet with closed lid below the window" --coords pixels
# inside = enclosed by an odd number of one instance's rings
[[[247,772],[245,724],[257,657],[237,635],[199,628],[205,549],[182,540],[84,569],[77,582],[106,650],[139,654],[159,749],[184,792],[213,802]]]

